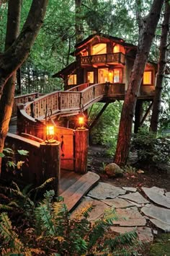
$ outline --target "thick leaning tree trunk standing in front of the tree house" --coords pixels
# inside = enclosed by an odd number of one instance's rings
[[[139,40],[138,53],[130,74],[128,90],[125,94],[120,118],[120,130],[115,153],[115,163],[119,165],[125,165],[128,160],[135,105],[163,2],[164,0],[154,0],[148,16],[143,19],[143,36]]]

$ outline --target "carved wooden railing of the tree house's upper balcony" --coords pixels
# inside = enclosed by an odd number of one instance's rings
[[[91,56],[80,57],[81,66],[93,65],[97,63],[121,63],[125,65],[125,54],[123,53],[106,53]]]

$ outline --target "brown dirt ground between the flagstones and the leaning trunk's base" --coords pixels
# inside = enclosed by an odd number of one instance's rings
[[[113,157],[107,155],[107,149],[102,146],[89,147],[88,170],[96,172],[101,181],[107,181],[117,187],[160,187],[170,191],[170,166],[164,171],[142,169],[144,173],[133,171],[125,172],[123,177],[109,178],[104,172],[104,167],[112,163]],[[134,162],[134,157],[131,159]],[[133,164],[133,163],[130,163]],[[166,171],[168,169],[168,171]],[[138,171],[138,169],[136,169]]]

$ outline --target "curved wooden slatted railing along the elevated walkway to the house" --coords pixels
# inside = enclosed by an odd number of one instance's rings
[[[85,89],[82,89],[84,87]],[[125,84],[120,84],[120,87],[122,87],[121,94],[125,94]],[[93,84],[90,87],[88,87],[88,84],[80,84],[68,91],[52,92],[32,102],[27,102],[24,105],[24,111],[27,118],[30,116],[38,120],[45,118],[45,111],[47,109],[52,110],[53,116],[76,115],[82,108],[86,110],[91,104],[102,100],[102,98],[108,95],[112,97],[115,94],[114,88],[115,84],[108,82]],[[116,93],[119,94],[119,92]],[[32,112],[34,115],[32,115]]]

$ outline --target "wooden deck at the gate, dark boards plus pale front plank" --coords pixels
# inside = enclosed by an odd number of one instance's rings
[[[79,175],[76,172],[61,170],[59,195],[64,198],[68,211],[71,211],[98,181],[99,175],[94,172]]]

